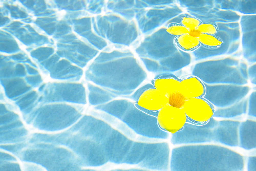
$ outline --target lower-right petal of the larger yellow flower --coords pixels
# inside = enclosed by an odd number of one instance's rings
[[[188,117],[195,121],[205,122],[210,119],[212,115],[210,106],[202,99],[188,99],[183,104],[183,107]]]

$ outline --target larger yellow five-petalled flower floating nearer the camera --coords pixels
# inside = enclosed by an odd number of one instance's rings
[[[191,119],[205,122],[210,119],[212,110],[202,99],[204,92],[200,81],[195,77],[181,82],[174,79],[157,79],[155,89],[142,93],[138,105],[148,110],[159,110],[159,125],[171,133],[177,132],[186,122],[186,114]]]

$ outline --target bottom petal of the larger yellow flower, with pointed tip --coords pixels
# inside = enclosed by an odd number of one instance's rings
[[[186,115],[180,108],[166,106],[159,111],[157,121],[162,128],[175,133],[185,124]]]

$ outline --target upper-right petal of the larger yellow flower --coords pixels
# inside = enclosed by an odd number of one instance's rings
[[[189,99],[198,97],[204,92],[204,87],[195,77],[180,82],[183,88],[183,95]]]

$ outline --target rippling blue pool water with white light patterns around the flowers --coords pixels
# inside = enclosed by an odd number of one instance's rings
[[[255,170],[255,1],[2,0],[0,170]],[[166,29],[215,23],[184,52]],[[197,76],[215,110],[171,134],[136,102]],[[148,115],[150,114],[150,115]],[[254,169],[253,169],[254,168]]]

